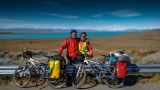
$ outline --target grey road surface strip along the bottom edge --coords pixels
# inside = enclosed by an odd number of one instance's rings
[[[0,86],[0,90],[56,90],[53,89],[49,86],[38,86],[38,87],[29,87],[29,88],[19,88],[17,86],[7,86],[7,85],[1,85]],[[58,89],[59,90],[59,89]],[[60,90],[76,90],[73,87],[68,87],[68,88],[63,88]],[[95,87],[92,88],[88,88],[86,90],[160,90],[160,84],[156,84],[156,83],[138,83],[135,84],[133,86],[125,86],[123,88],[119,88],[119,89],[111,89],[108,88],[105,85],[97,85]]]

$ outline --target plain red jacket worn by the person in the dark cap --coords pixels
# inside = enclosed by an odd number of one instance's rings
[[[79,42],[80,38],[72,38],[72,37],[67,38],[58,50],[59,55],[62,54],[63,49],[67,48],[67,57],[76,58],[77,52],[79,50]]]

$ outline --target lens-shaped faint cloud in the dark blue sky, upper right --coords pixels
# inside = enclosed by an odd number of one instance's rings
[[[140,13],[130,9],[122,9],[122,10],[111,12],[110,14],[117,17],[135,17],[135,16],[141,15]]]

